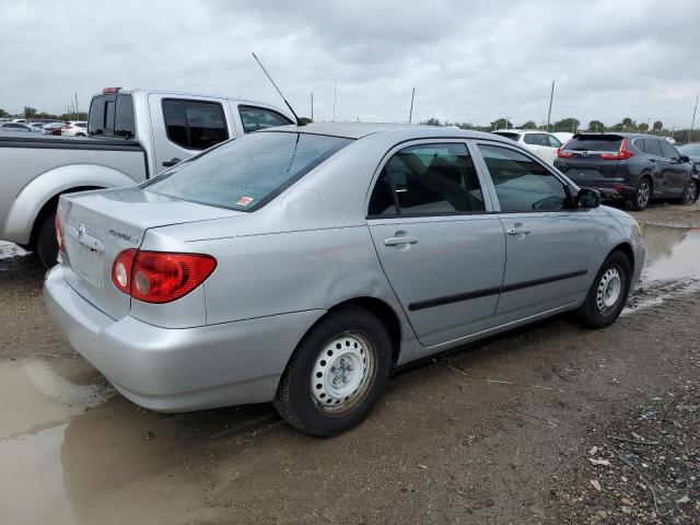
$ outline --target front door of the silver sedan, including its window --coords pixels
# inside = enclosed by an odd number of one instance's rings
[[[506,237],[506,268],[491,326],[569,305],[587,290],[605,232],[592,210],[568,209],[564,183],[544,164],[504,144],[478,150],[498,199]]]

